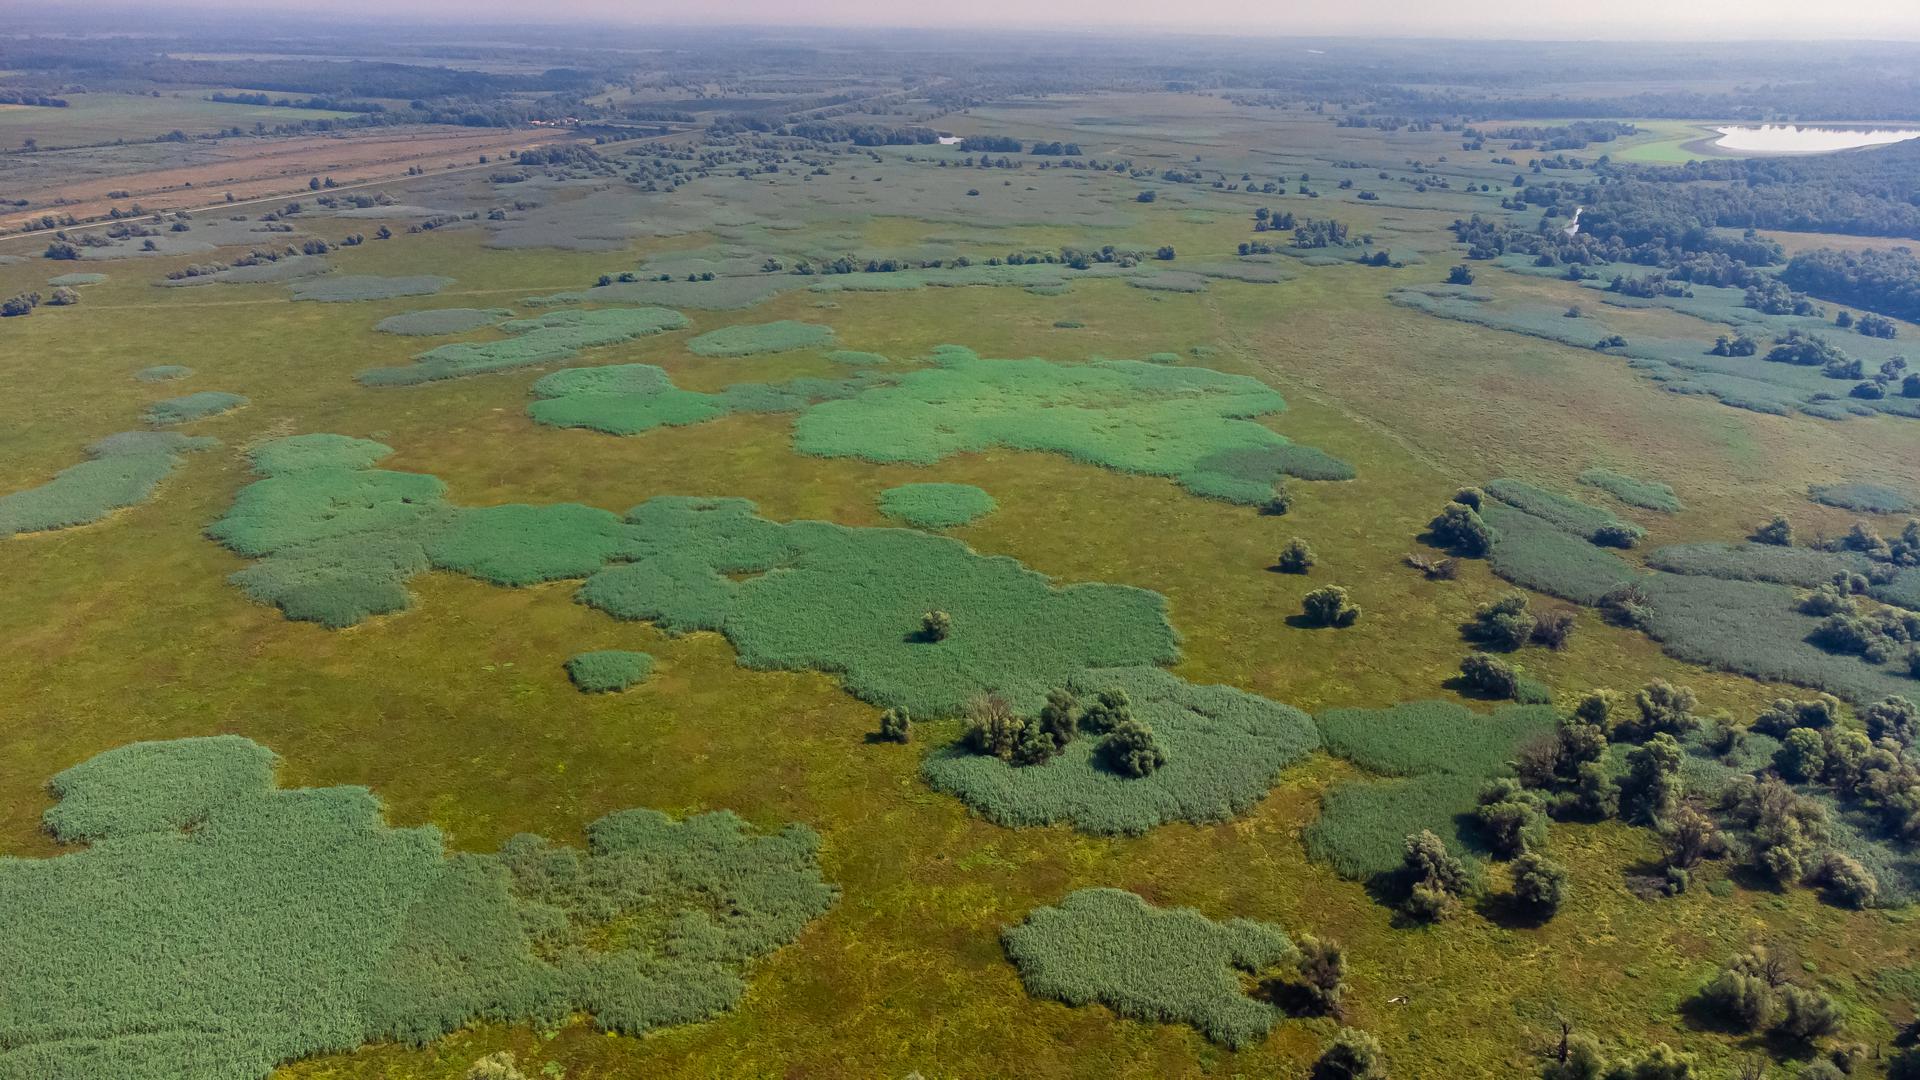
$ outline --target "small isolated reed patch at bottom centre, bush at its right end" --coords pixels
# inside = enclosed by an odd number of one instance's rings
[[[1269,922],[1215,922],[1114,888],[1071,892],[1006,928],[1000,944],[1035,997],[1192,1024],[1229,1047],[1260,1042],[1281,1019],[1279,1007],[1246,994],[1244,978],[1296,957]]]

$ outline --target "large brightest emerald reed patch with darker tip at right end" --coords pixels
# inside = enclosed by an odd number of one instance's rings
[[[1129,359],[983,359],[941,346],[933,365],[801,413],[793,446],[820,457],[931,465],[995,446],[1171,477],[1227,502],[1263,502],[1284,475],[1352,469],[1254,417],[1286,402],[1258,380]]]

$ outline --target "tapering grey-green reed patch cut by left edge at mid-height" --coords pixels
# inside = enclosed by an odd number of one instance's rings
[[[0,496],[0,536],[92,525],[115,509],[154,498],[154,488],[180,467],[180,454],[219,446],[205,436],[127,430],[86,448],[86,461],[52,480]]]

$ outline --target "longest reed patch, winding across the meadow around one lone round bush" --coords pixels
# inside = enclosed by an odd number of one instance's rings
[[[578,503],[459,507],[380,444],[294,436],[207,532],[259,559],[234,575],[290,619],[349,626],[407,607],[428,569],[501,586],[588,578],[580,600],[670,632],[720,630],[756,669],[839,673],[881,705],[952,715],[985,692],[1021,707],[1087,667],[1171,663],[1165,600],[1054,586],[1010,559],[902,528],[774,523],[745,500],[655,498],[626,517]],[[922,617],[952,613],[929,642]]]

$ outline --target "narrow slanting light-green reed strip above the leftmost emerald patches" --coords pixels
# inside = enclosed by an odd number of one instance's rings
[[[685,329],[687,317],[668,307],[599,307],[547,311],[530,319],[509,319],[492,342],[453,342],[426,350],[405,367],[374,367],[357,379],[367,386],[415,386],[440,379],[463,379],[574,359],[582,350],[611,346]]]

